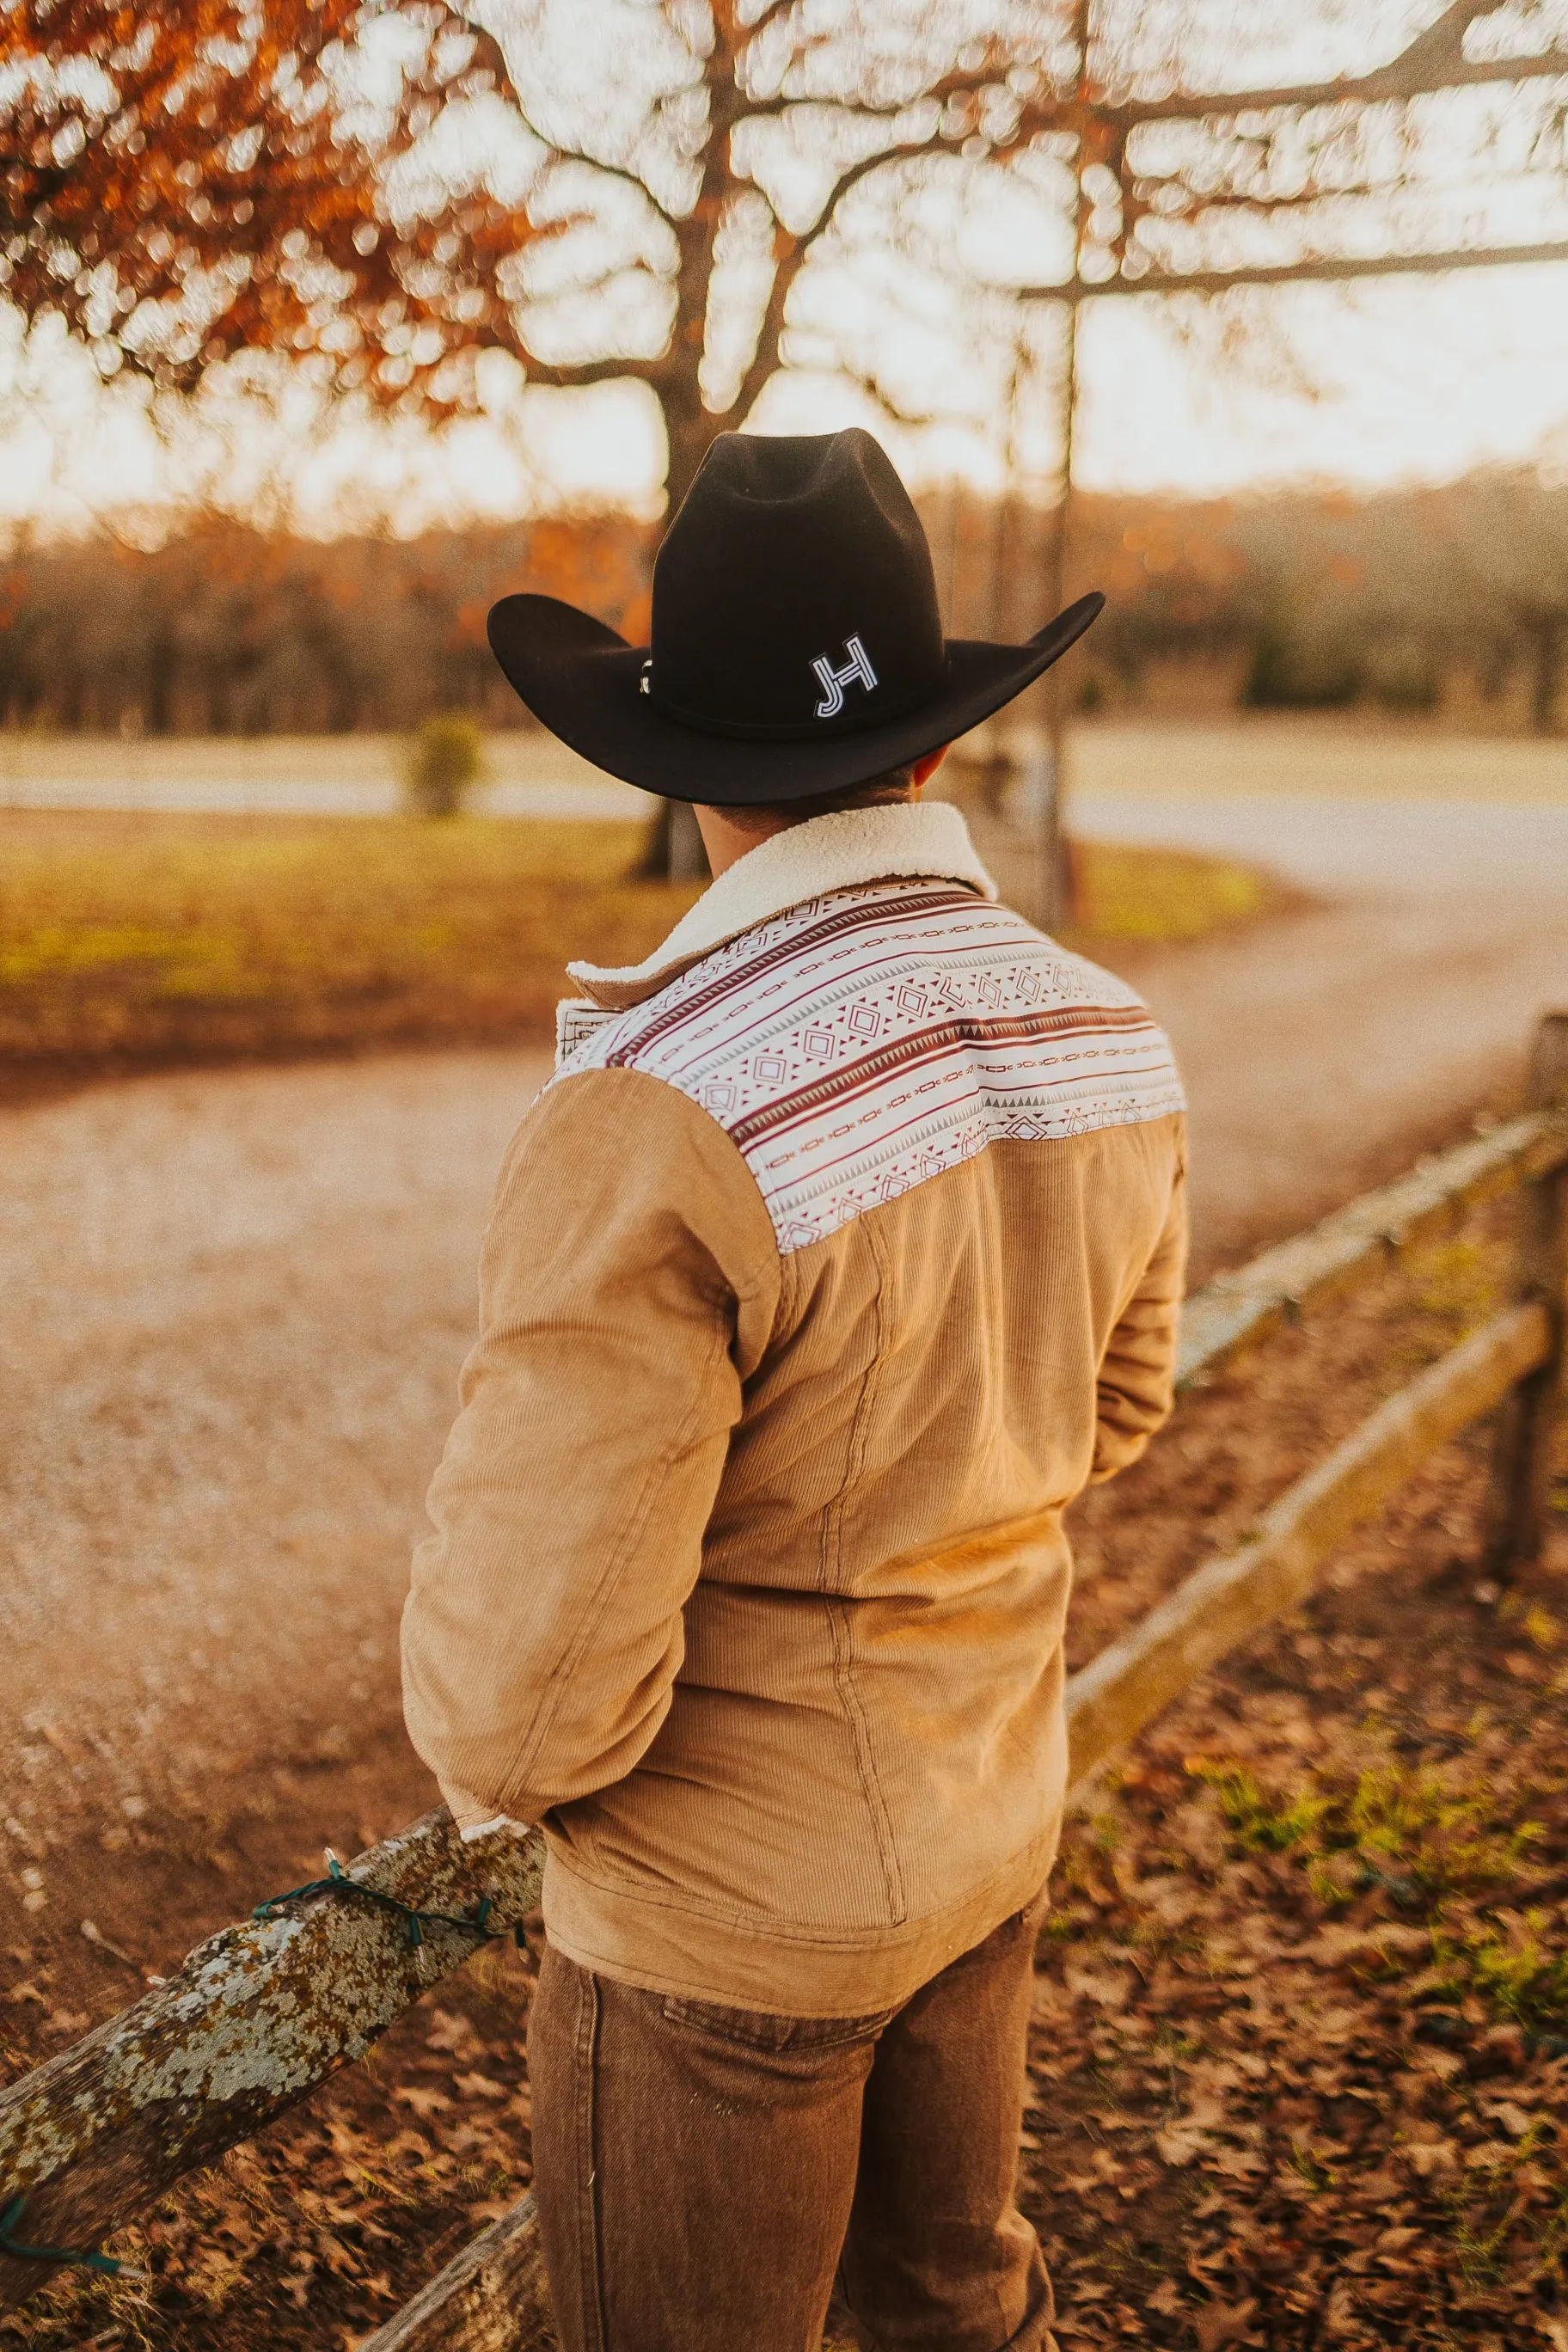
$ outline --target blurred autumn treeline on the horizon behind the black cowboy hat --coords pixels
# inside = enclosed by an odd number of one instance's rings
[[[1023,637],[1048,619],[1048,510],[973,492],[922,506],[957,635]],[[654,546],[654,527],[616,517],[329,543],[205,520],[155,548],[14,543],[0,724],[317,734],[433,710],[527,724],[484,644],[491,600],[564,595],[639,642]],[[1533,473],[1378,496],[1079,494],[1067,590],[1088,586],[1110,612],[1074,661],[1086,713],[1568,724],[1568,489]]]

